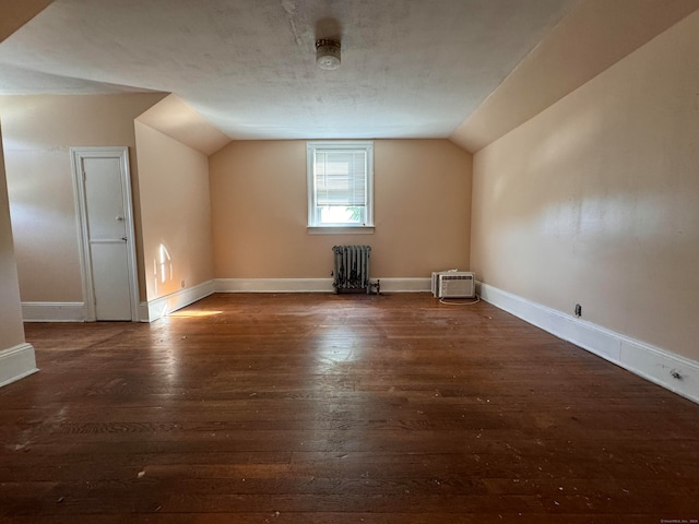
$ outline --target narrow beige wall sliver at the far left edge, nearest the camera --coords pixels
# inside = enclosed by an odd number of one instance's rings
[[[0,132],[0,139],[2,133]],[[1,143],[1,142],[0,142]],[[0,352],[24,343],[17,269],[12,247],[10,205],[4,160],[0,147]]]

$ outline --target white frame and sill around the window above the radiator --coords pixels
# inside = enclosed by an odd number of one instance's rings
[[[363,224],[322,224],[316,198],[316,153],[333,151],[363,151],[366,154],[366,214]],[[372,141],[330,141],[307,142],[307,181],[308,181],[308,231],[325,233],[374,233],[374,142]]]

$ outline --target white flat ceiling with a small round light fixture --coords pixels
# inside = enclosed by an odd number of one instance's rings
[[[174,93],[232,139],[448,138],[577,3],[56,0],[0,44],[0,94]]]

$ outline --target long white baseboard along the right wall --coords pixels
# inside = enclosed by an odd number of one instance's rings
[[[493,306],[699,403],[699,362],[487,284],[478,283],[478,291]]]

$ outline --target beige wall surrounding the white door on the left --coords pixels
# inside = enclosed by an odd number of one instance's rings
[[[129,146],[138,203],[133,119],[163,96],[0,97],[22,300],[82,301],[69,147]],[[139,224],[138,205],[134,213]]]

